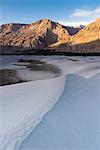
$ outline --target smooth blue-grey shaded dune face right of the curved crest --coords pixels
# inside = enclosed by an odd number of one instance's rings
[[[99,150],[100,73],[67,75],[63,95],[20,150]]]

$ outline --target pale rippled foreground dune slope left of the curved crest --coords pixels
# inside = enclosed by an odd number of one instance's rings
[[[61,96],[65,77],[0,87],[0,148],[13,150]]]

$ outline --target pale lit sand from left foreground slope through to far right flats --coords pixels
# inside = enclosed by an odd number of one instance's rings
[[[36,58],[40,59],[40,57]],[[54,79],[0,87],[1,150],[19,149],[23,139],[30,134],[61,96],[66,74],[77,74],[89,78],[100,72],[99,58],[74,57],[79,60],[74,62],[65,56],[42,57],[42,60],[59,66],[62,69],[62,75]],[[14,58],[15,60],[16,58]],[[11,68],[14,67],[13,63],[9,63]],[[9,65],[6,63],[3,68],[9,67]]]

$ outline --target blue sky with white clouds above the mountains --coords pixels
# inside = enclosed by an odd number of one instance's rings
[[[48,18],[63,25],[87,25],[100,17],[100,0],[0,0],[0,24]]]

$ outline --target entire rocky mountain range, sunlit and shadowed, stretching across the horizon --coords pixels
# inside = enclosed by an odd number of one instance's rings
[[[0,26],[0,53],[100,53],[100,18],[88,26],[63,26],[49,19]]]

